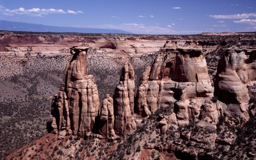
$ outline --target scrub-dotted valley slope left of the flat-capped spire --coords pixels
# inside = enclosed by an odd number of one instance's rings
[[[46,130],[52,95],[60,87],[65,56],[24,61],[1,56],[0,155],[40,138]],[[12,135],[12,136],[10,136]]]

